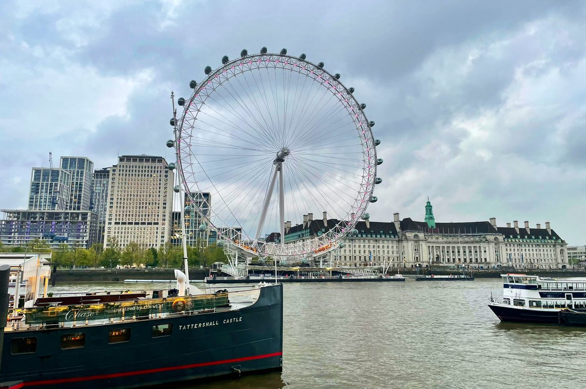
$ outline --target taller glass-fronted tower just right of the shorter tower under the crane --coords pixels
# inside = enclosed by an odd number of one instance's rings
[[[61,157],[61,168],[69,171],[70,189],[67,209],[88,211],[90,209],[91,176],[94,163],[87,157]]]

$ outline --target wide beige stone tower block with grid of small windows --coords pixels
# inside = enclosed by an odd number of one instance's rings
[[[118,157],[110,169],[104,247],[115,237],[120,247],[158,248],[171,236],[172,209],[173,171],[163,157]]]

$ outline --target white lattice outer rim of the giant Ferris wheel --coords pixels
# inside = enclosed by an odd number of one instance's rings
[[[248,67],[245,66],[245,64],[247,64]],[[179,119],[178,132],[176,135],[178,173],[180,181],[183,187],[185,187],[186,194],[188,195],[189,199],[193,201],[192,188],[190,188],[189,184],[195,185],[198,192],[201,191],[193,173],[193,182],[189,182],[188,178],[186,177],[186,168],[184,167],[183,162],[186,157],[193,156],[193,154],[191,152],[190,143],[187,142],[183,135],[188,132],[188,130],[193,131],[194,129],[193,125],[186,126],[186,116],[189,112],[193,112],[190,107],[194,105],[194,102],[196,102],[196,106],[201,108],[203,105],[205,105],[206,100],[214,94],[216,88],[219,87],[219,85],[222,85],[224,82],[229,81],[230,78],[237,77],[239,74],[243,74],[254,69],[272,67],[281,68],[284,71],[295,71],[299,74],[305,75],[310,79],[312,78],[312,81],[317,81],[324,87],[328,85],[328,87],[326,87],[328,91],[331,91],[332,94],[338,98],[340,104],[344,106],[348,115],[352,118],[353,123],[355,123],[357,135],[360,138],[360,145],[363,149],[362,171],[364,174],[362,175],[360,190],[356,195],[356,202],[352,205],[352,207],[350,207],[349,211],[347,211],[346,218],[343,218],[343,220],[339,220],[338,223],[336,223],[335,228],[328,229],[328,231],[323,233],[323,235],[314,236],[312,239],[300,243],[267,243],[259,240],[257,236],[248,236],[247,234],[244,234],[246,236],[246,241],[253,243],[250,246],[246,246],[245,250],[248,250],[252,253],[267,254],[272,256],[299,256],[304,254],[311,254],[315,253],[315,251],[320,247],[327,247],[330,249],[331,246],[335,245],[339,239],[349,233],[356,226],[356,223],[359,221],[360,217],[363,216],[367,205],[372,198],[376,180],[377,154],[370,122],[367,120],[363,108],[354,97],[353,91],[350,91],[349,88],[346,88],[345,85],[343,85],[342,82],[338,80],[339,75],[338,78],[336,78],[335,75],[332,75],[328,71],[324,70],[323,66],[311,63],[310,61],[305,60],[305,58],[275,53],[251,54],[242,56],[236,60],[227,61],[216,70],[210,71],[205,80],[203,80],[199,85],[196,86],[196,88],[194,88],[190,98],[185,100],[185,104],[183,106],[183,113]],[[193,115],[191,118],[193,122],[197,121],[197,115],[199,115],[200,112],[199,108],[195,109],[195,115]],[[210,229],[216,231],[218,239],[221,239],[222,237],[225,238],[226,236],[230,235],[230,233],[235,232],[234,228],[237,226],[233,226],[231,228],[216,226],[216,223],[212,222],[212,215],[214,215],[213,211],[210,212],[209,215],[202,214],[201,216],[207,225],[209,225]],[[222,221],[222,219],[220,219],[220,221]],[[227,230],[230,229],[231,232],[226,233]],[[284,237],[282,237],[282,240],[284,241]],[[268,246],[271,246],[271,249],[268,249]]]

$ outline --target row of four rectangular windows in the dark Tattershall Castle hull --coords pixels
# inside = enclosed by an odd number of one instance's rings
[[[172,323],[165,323],[152,326],[152,338],[159,338],[161,336],[169,336],[173,332]],[[108,343],[113,345],[115,343],[130,342],[131,329],[117,328],[108,333]],[[86,346],[86,333],[75,332],[66,333],[61,336],[61,349],[80,349]],[[12,354],[30,354],[37,350],[36,336],[29,336],[27,338],[15,338],[11,340],[10,352]]]

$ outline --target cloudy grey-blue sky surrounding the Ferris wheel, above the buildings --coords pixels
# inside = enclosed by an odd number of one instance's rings
[[[518,220],[583,245],[586,3],[2,1],[0,208],[49,152],[172,161],[171,89],[262,46],[341,73],[376,121],[373,221]]]

